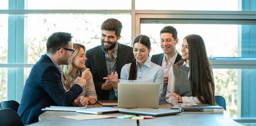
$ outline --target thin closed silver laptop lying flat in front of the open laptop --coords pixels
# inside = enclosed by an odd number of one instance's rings
[[[151,109],[151,108],[125,109],[125,110],[119,110],[119,112],[128,113],[128,114],[147,115],[147,116],[154,116],[154,117],[181,113],[180,110]]]

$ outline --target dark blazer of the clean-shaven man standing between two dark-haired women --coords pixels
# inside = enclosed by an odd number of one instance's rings
[[[151,62],[159,65],[159,66],[162,66],[162,62],[163,62],[163,58],[164,58],[165,54],[162,53],[162,54],[156,54],[156,55],[153,55],[151,57]],[[174,64],[177,64],[179,61],[182,60],[182,56],[178,53],[176,59],[175,59],[175,62]]]

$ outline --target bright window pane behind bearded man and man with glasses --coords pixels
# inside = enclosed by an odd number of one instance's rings
[[[58,31],[71,33],[73,43],[90,49],[100,45],[100,26],[108,18],[117,18],[123,25],[119,43],[131,44],[131,15],[128,14],[49,14],[27,16],[28,63],[34,64],[46,53],[46,39]],[[40,33],[38,32],[40,31]],[[35,48],[36,47],[36,48]]]

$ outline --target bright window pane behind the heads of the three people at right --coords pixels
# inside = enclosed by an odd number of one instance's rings
[[[173,26],[178,31],[179,43],[176,46],[181,53],[181,44],[187,35],[200,35],[205,42],[207,55],[210,57],[238,57],[238,41],[241,25],[219,24],[140,24],[140,34],[151,38],[153,54],[162,53],[160,48],[160,30],[165,26]],[[154,30],[150,30],[154,29]],[[238,32],[239,31],[239,32]],[[241,56],[240,56],[241,57]]]

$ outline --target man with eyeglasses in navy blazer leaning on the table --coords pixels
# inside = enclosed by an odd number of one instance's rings
[[[53,33],[47,40],[47,53],[32,67],[26,80],[18,115],[25,125],[38,122],[42,108],[50,106],[86,106],[80,93],[86,80],[77,77],[67,92],[61,82],[61,67],[68,65],[74,49],[69,33]]]

